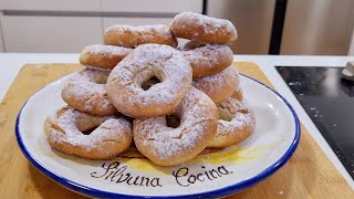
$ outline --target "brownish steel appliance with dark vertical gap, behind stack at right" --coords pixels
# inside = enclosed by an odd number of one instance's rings
[[[354,0],[205,0],[205,13],[231,20],[238,54],[347,55]]]

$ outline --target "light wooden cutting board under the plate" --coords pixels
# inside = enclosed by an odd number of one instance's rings
[[[239,72],[270,85],[253,63],[236,63]],[[17,115],[38,90],[69,73],[79,64],[28,64],[22,67],[0,105],[1,198],[84,198],[56,185],[22,155],[14,134]],[[271,85],[270,85],[271,86]],[[230,198],[354,198],[354,191],[302,126],[299,147],[279,171]]]

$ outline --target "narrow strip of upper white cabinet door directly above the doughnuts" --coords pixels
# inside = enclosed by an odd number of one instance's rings
[[[102,0],[102,11],[135,13],[178,13],[194,11],[201,13],[202,0]]]

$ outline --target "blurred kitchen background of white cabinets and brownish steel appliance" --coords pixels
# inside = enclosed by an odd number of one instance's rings
[[[354,0],[0,0],[0,52],[79,53],[112,24],[231,20],[239,54],[354,55]]]

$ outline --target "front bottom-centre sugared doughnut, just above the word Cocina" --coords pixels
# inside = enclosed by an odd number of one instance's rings
[[[174,166],[196,157],[216,135],[217,107],[195,87],[173,115],[180,121],[175,128],[168,126],[166,116],[135,119],[133,123],[137,149],[159,166]]]

